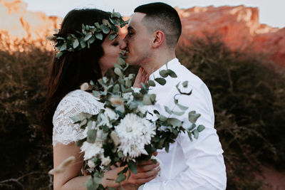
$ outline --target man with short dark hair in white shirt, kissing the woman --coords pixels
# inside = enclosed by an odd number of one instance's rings
[[[181,34],[181,21],[177,11],[164,3],[138,6],[128,24],[127,43],[130,65],[140,65],[149,75],[150,80],[160,77],[159,71],[167,67],[177,74],[177,78],[165,78],[167,83],[150,89],[149,93],[157,95],[157,103],[150,107],[160,114],[167,115],[165,105],[174,108],[173,97],[178,93],[175,85],[188,80],[192,94],[180,95],[180,105],[189,107],[187,112],[195,110],[201,117],[198,125],[206,128],[199,133],[198,139],[190,141],[187,133],[180,134],[169,152],[157,150],[164,165],[162,174],[140,189],[225,189],[227,183],[223,150],[214,129],[214,111],[212,97],[207,86],[196,75],[180,64],[175,56],[175,48]],[[190,127],[188,115],[177,117]]]

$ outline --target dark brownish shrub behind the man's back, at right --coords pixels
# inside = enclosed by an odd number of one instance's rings
[[[177,58],[208,86],[224,149],[227,189],[259,189],[259,164],[285,161],[285,75],[266,56],[231,51],[219,36],[192,38]],[[283,70],[284,71],[284,70]]]

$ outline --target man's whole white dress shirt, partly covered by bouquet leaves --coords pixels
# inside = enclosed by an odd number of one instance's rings
[[[219,142],[217,131],[214,129],[214,110],[212,97],[207,86],[196,75],[181,65],[177,58],[167,63],[167,68],[177,74],[177,78],[168,76],[167,83],[160,85],[155,82],[155,87],[151,87],[149,93],[157,95],[157,103],[148,107],[149,111],[158,110],[160,114],[168,116],[165,112],[165,105],[181,111],[174,103],[174,96],[178,93],[175,87],[177,83],[188,81],[188,88],[192,89],[192,94],[178,95],[180,105],[185,105],[188,110],[182,116],[172,115],[184,122],[185,128],[190,127],[188,112],[195,110],[201,114],[197,120],[197,125],[206,127],[199,132],[199,138],[191,142],[187,133],[181,133],[175,143],[170,144],[169,152],[158,149],[157,157],[162,161],[163,167],[161,175],[143,186],[143,190],[159,189],[226,189],[227,176],[224,166],[223,150]],[[150,80],[160,78],[160,70],[166,69],[166,65],[156,70],[150,75]],[[147,116],[151,119],[151,115]]]

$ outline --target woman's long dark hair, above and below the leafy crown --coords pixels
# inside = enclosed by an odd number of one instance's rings
[[[66,38],[68,33],[77,36],[76,31],[81,31],[82,24],[94,26],[95,22],[102,23],[109,18],[109,14],[98,9],[74,9],[70,11],[63,22],[59,35]],[[52,137],[53,114],[61,99],[69,92],[80,88],[82,83],[97,82],[102,77],[98,60],[103,56],[103,40],[96,40],[90,48],[80,51],[63,53],[63,56],[53,58],[46,80],[46,103],[40,114],[41,127],[47,137]]]

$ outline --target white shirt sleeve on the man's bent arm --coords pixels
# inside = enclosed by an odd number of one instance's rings
[[[148,182],[144,190],[203,190],[226,189],[227,176],[222,156],[222,146],[214,129],[214,112],[212,98],[207,86],[202,84],[199,89],[193,88],[192,95],[180,96],[180,104],[187,105],[187,113],[195,110],[201,114],[197,125],[206,128],[199,133],[199,138],[191,142],[188,135],[181,133],[177,137],[178,146],[181,147],[187,164],[187,169],[175,178],[162,182]],[[190,126],[187,115],[180,117],[185,127]]]

